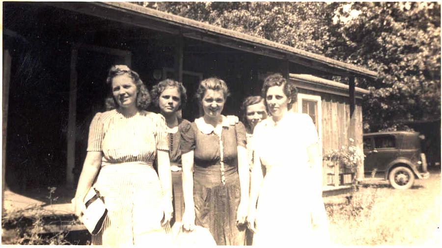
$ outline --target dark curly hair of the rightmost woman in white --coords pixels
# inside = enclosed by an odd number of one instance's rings
[[[264,80],[264,84],[262,85],[261,90],[261,96],[264,99],[267,99],[267,90],[269,90],[270,87],[281,85],[283,85],[282,91],[284,92],[285,96],[290,100],[289,104],[287,105],[287,108],[290,110],[293,103],[295,103],[297,100],[298,89],[296,88],[295,84],[290,81],[287,82],[287,80],[279,73],[272,74]],[[264,103],[266,105],[266,108],[268,108],[267,100]]]

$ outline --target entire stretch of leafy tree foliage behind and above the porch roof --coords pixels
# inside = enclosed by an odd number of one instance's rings
[[[440,119],[437,2],[139,2],[146,7],[358,64],[378,72],[364,127]]]

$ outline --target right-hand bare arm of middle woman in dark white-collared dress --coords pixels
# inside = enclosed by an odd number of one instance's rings
[[[238,206],[237,222],[244,224],[249,210],[249,156],[244,146],[237,146],[238,174],[241,187],[241,200]]]

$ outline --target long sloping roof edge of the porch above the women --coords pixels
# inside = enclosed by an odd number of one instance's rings
[[[360,66],[341,62],[323,55],[309,53],[238,31],[220,28],[214,25],[143,7],[135,3],[48,2],[47,4],[139,27],[183,35],[184,37],[202,40],[254,54],[287,59],[290,62],[312,67],[331,75],[372,79],[377,77],[376,72]]]

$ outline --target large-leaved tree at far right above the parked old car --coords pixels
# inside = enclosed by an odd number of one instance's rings
[[[364,121],[371,129],[440,119],[440,4],[358,2],[340,4],[335,11],[331,30],[347,48],[334,46],[324,54],[378,72],[376,82],[360,83],[370,90]]]

